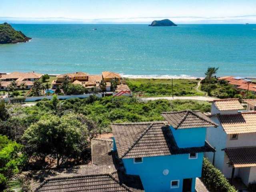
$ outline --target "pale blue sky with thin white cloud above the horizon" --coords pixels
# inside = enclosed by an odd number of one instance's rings
[[[0,0],[0,22],[149,24],[256,23],[256,0]]]

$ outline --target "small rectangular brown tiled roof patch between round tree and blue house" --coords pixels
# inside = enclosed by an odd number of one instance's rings
[[[92,139],[92,164],[113,165],[112,139]]]

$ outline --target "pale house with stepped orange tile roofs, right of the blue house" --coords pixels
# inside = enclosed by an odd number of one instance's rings
[[[243,112],[238,99],[214,100],[206,139],[216,149],[205,156],[226,178],[239,177],[244,184],[256,181],[256,112]]]

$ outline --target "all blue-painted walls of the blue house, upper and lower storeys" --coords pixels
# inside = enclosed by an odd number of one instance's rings
[[[174,129],[170,127],[174,139],[180,148],[204,146],[206,128]],[[114,138],[113,138],[114,140]],[[113,149],[116,150],[114,140]],[[204,153],[198,153],[196,159],[189,154],[144,157],[142,163],[134,163],[134,158],[123,158],[127,174],[139,175],[145,192],[182,192],[183,179],[192,178],[191,191],[195,192],[196,177],[202,173]],[[168,170],[167,175],[163,174]],[[178,188],[171,188],[171,181],[179,180]]]

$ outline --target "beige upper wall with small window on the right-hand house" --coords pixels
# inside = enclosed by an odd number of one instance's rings
[[[246,147],[246,146],[256,146],[256,133],[243,133],[238,134],[237,140],[230,140],[230,135],[227,135],[226,147]]]

